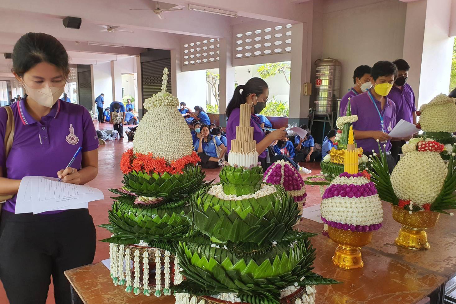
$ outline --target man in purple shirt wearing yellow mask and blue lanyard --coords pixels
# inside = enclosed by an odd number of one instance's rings
[[[398,70],[394,63],[379,61],[371,71],[373,88],[350,100],[352,115],[358,115],[353,122],[353,133],[364,154],[371,155],[378,151],[378,142],[387,154],[388,167],[393,170],[395,161],[389,152],[391,148],[388,133],[396,125],[396,105],[386,97],[393,86]]]

